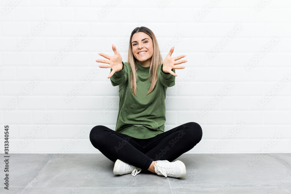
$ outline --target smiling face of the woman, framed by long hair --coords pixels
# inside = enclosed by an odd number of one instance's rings
[[[131,46],[137,62],[144,67],[150,66],[150,61],[154,54],[152,38],[144,32],[134,33],[132,35]]]

